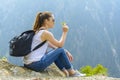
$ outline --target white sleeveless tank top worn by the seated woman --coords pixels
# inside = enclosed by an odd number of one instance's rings
[[[38,33],[35,34],[32,41],[31,49],[34,49],[38,44],[42,42],[41,35],[44,32],[44,30],[40,30]],[[24,64],[30,64],[35,61],[41,60],[41,58],[45,55],[48,47],[48,42],[46,42],[43,46],[36,49],[35,51],[32,51],[27,56],[24,56],[23,62]]]

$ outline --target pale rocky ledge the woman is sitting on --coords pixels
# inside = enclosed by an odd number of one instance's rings
[[[10,64],[0,59],[0,80],[120,80],[107,76],[91,77],[65,77],[65,75],[52,64],[45,72],[35,72],[24,67]]]

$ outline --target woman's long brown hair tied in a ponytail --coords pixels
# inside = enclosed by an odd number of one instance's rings
[[[46,12],[39,12],[36,16],[33,30],[34,31],[39,30],[43,26],[45,19],[49,19],[50,17],[52,17],[51,12],[47,12],[47,11]]]

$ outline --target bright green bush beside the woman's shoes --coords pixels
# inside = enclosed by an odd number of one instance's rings
[[[98,64],[96,67],[91,67],[89,65],[80,68],[80,72],[85,73],[87,76],[93,76],[93,75],[108,75],[108,69],[102,66],[101,64]]]

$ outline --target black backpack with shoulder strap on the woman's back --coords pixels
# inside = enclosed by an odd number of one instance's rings
[[[31,44],[35,32],[33,30],[28,30],[19,36],[15,36],[10,40],[9,53],[11,56],[23,57],[28,55],[31,52]],[[40,48],[45,44],[46,40],[37,45],[32,51]]]

